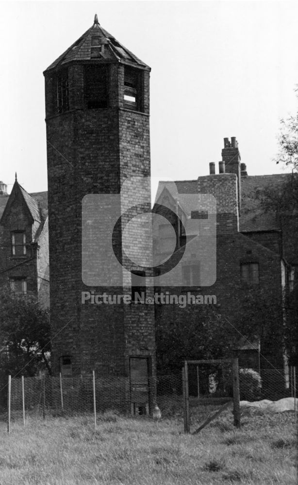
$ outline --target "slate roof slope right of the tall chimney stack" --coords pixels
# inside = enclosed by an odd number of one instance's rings
[[[282,189],[291,174],[254,175],[241,177],[241,231],[279,230],[280,225],[274,211],[265,211],[262,198],[267,189]]]

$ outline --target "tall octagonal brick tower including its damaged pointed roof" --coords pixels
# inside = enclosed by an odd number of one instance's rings
[[[83,283],[82,201],[90,194],[119,194],[127,178],[149,177],[149,72],[149,66],[99,25],[97,16],[93,26],[44,72],[53,372],[96,370],[103,377],[123,376],[125,402],[130,395],[132,408],[143,405],[147,411],[154,401],[154,390],[149,392],[148,386],[155,375],[154,306],[123,300],[92,304],[91,298],[82,304],[82,292],[92,291],[129,293],[133,300],[135,289],[144,286],[144,272],[136,264],[133,274],[124,269],[122,274],[121,265],[107,256],[101,261],[102,270],[112,276],[116,272],[121,285],[97,284],[96,278],[93,286]],[[143,193],[134,189],[135,202],[141,205],[144,189]],[[115,202],[119,215],[123,201],[122,194]],[[107,208],[99,212],[102,234],[109,240]],[[131,241],[143,233],[140,227]],[[103,242],[93,243],[97,247]],[[121,252],[120,236],[116,246]],[[149,239],[146,251],[149,255]],[[147,296],[152,293],[146,291]],[[138,386],[143,395],[133,397]]]

